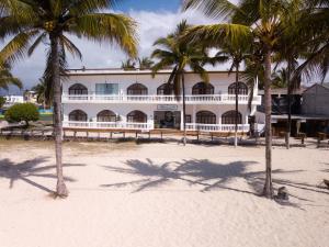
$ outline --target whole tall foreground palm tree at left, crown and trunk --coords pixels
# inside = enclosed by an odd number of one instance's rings
[[[128,55],[135,57],[136,23],[128,16],[104,13],[114,0],[11,0],[0,2],[0,38],[12,37],[0,52],[0,60],[10,63],[31,55],[41,44],[49,41],[46,69],[46,94],[54,90],[54,131],[56,149],[56,194],[67,197],[61,164],[61,86],[65,74],[66,53],[79,58],[81,53],[66,34],[97,42],[117,43]],[[32,45],[31,45],[32,43]]]

